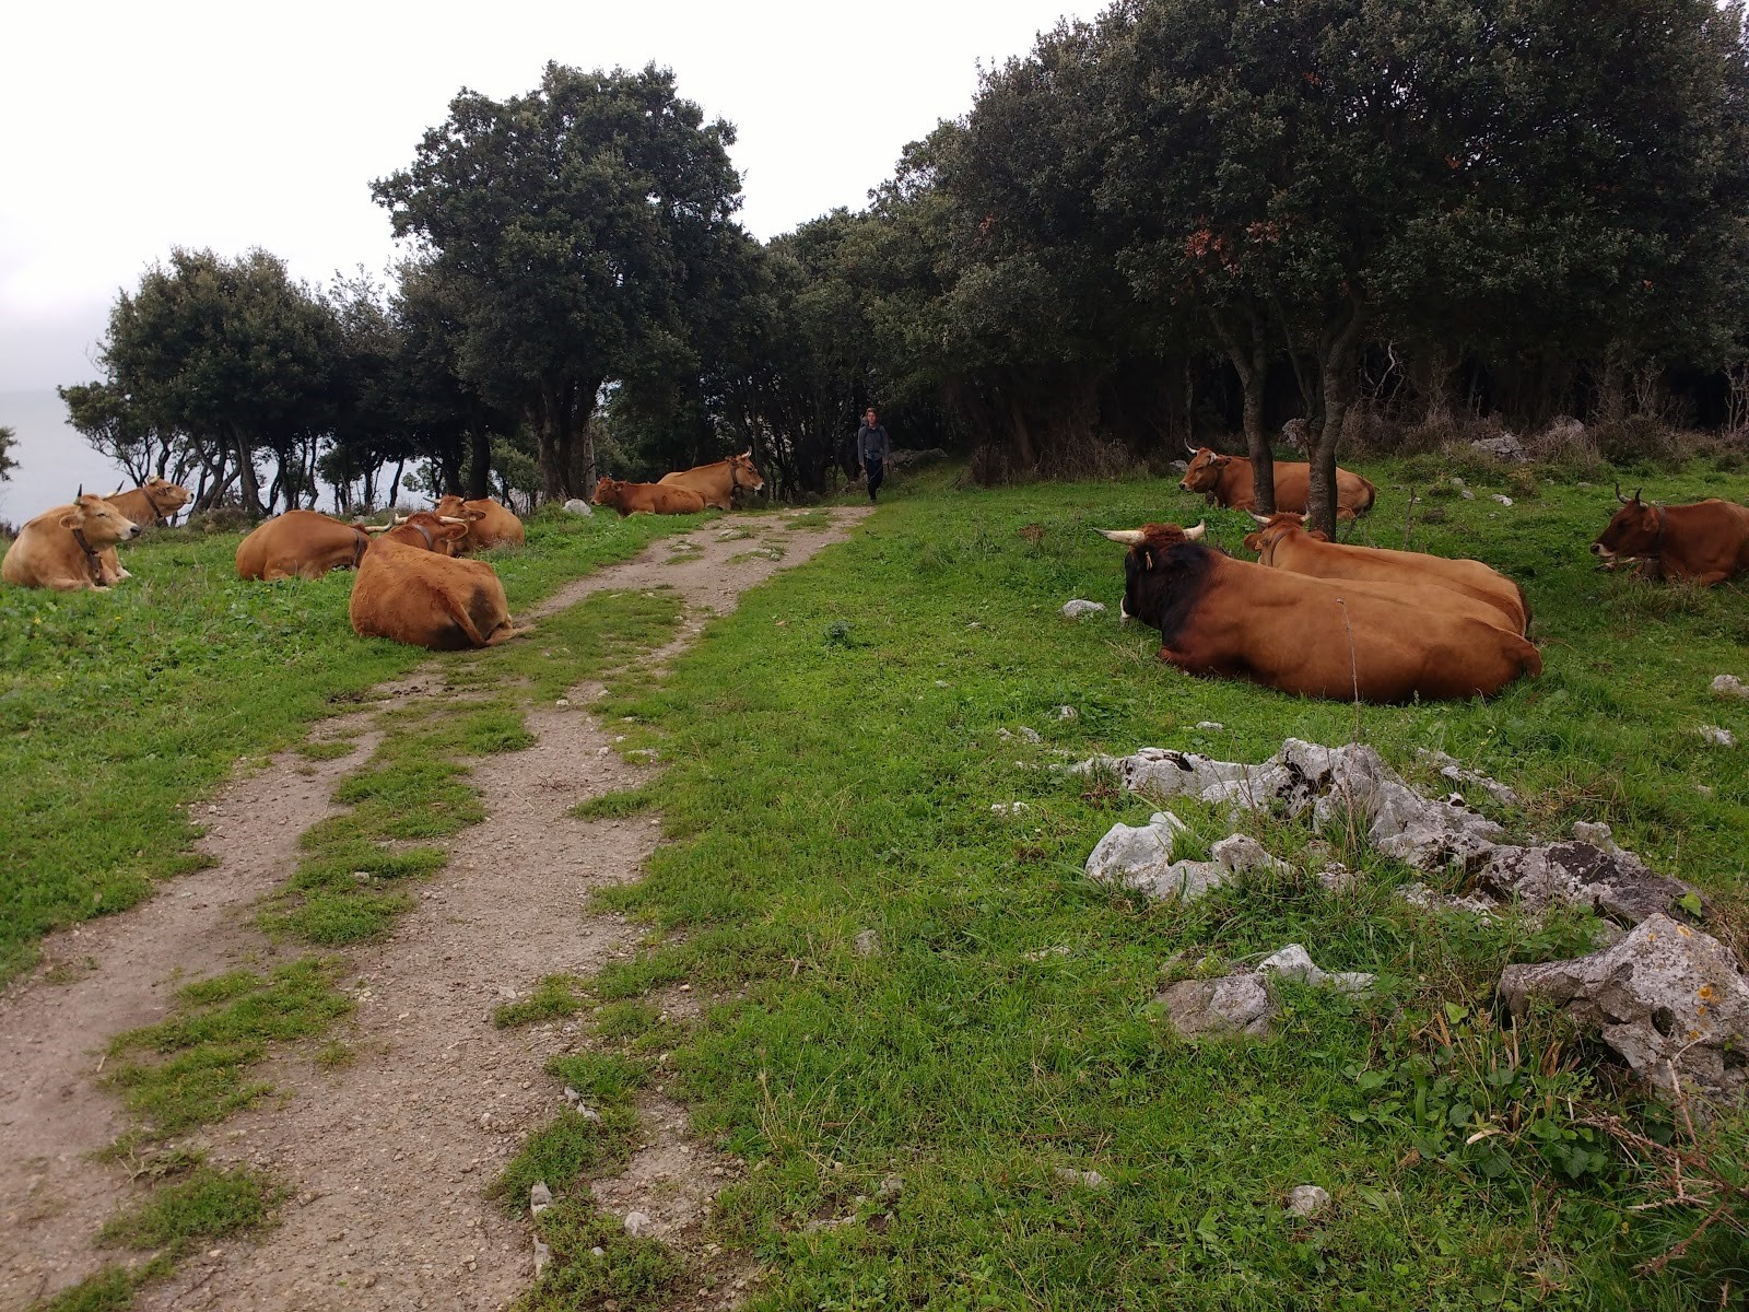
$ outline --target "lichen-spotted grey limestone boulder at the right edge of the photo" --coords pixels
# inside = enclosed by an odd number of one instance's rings
[[[1749,983],[1725,945],[1670,917],[1646,917],[1588,957],[1508,966],[1499,994],[1515,1015],[1532,999],[1564,1006],[1665,1100],[1676,1097],[1672,1064],[1711,1097],[1742,1100],[1749,1086]]]

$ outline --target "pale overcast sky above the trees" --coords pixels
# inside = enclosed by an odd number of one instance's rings
[[[649,61],[736,124],[759,238],[861,208],[906,142],[971,105],[1065,0],[297,5],[19,3],[0,42],[0,392],[96,376],[115,292],[173,245],[259,245],[292,275],[381,271],[369,184],[463,86],[530,91],[547,59]],[[0,423],[5,423],[0,416]]]

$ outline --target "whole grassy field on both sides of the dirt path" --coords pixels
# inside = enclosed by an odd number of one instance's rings
[[[551,1074],[607,1113],[598,1128],[561,1121],[537,1135],[500,1183],[507,1200],[537,1176],[572,1184],[546,1226],[560,1261],[528,1307],[614,1296],[631,1312],[687,1288],[684,1263],[628,1246],[577,1188],[623,1160],[635,1090],[658,1058],[700,1132],[750,1163],[712,1239],[763,1267],[750,1303],[763,1310],[1740,1298],[1749,1263],[1730,1225],[1637,1274],[1705,1209],[1635,1211],[1669,1202],[1667,1183],[1581,1123],[1602,1107],[1679,1137],[1669,1120],[1623,1095],[1583,1037],[1541,1020],[1504,1029],[1494,1013],[1502,964],[1588,950],[1592,917],[1432,917],[1394,897],[1424,876],[1340,834],[1324,838],[1361,880],[1334,896],[1308,875],[1313,834],[1268,819],[1254,831],[1293,871],[1191,908],[1083,876],[1111,824],[1154,806],[1053,766],[1139,745],[1259,761],[1284,736],[1359,736],[1427,787],[1417,747],[1511,784],[1522,810],[1499,815],[1522,833],[1607,820],[1655,868],[1740,904],[1749,763],[1697,728],[1749,733],[1749,703],[1707,689],[1716,673],[1749,677],[1742,590],[1593,572],[1585,544],[1614,506],[1604,485],[1432,458],[1361,469],[1382,497],[1357,541],[1474,555],[1525,584],[1541,679],[1488,703],[1361,710],[1186,679],[1154,658],[1158,635],[1116,623],[1121,548],[1091,530],[1195,521],[1196,499],[1158,479],[957,490],[953,471],[934,471],[892,488],[852,542],[743,598],[665,684],[610,689],[600,714],[635,717],[623,749],[659,749],[666,773],[588,810],[659,806],[670,841],[649,880],[605,899],[647,918],[649,948],[595,980],[554,980],[498,1018],[586,1018],[589,1051]],[[1646,481],[1669,500],[1749,500],[1746,476]],[[1410,488],[1422,493],[1413,518]],[[1210,539],[1237,551],[1249,520],[1207,518]],[[673,527],[687,525],[539,521],[528,549],[498,562],[512,607]],[[136,899],[187,862],[180,808],[238,757],[296,740],[423,656],[353,639],[345,577],[226,579],[231,542],[142,548],[131,593],[0,591],[0,742],[28,803],[0,817],[10,969],[44,927]],[[1070,597],[1111,609],[1065,621]],[[663,605],[579,612],[554,633],[593,647],[600,625],[647,644],[672,623]],[[498,656],[528,696],[549,696],[582,668],[537,659],[551,649]],[[453,684],[467,684],[463,665]],[[394,908],[357,890],[331,901],[345,887],[329,889],[327,848],[418,829],[418,808],[395,805],[397,761],[422,743],[514,750],[521,703],[483,705],[442,742],[427,743],[434,722],[401,726],[348,782],[352,815],[313,831],[308,869],[269,910],[276,927],[336,948],[376,932]],[[423,780],[420,796],[441,801],[442,787]],[[1214,813],[1174,810],[1193,848],[1228,833]],[[1268,1043],[1163,1032],[1153,999],[1165,983],[1293,941],[1326,969],[1378,973],[1378,988],[1287,987]],[[675,981],[721,1001],[693,1027],[665,1020],[645,995]],[[271,987],[215,983],[210,1023]],[[1497,1134],[1466,1142],[1478,1125]],[[1707,1134],[1709,1160],[1742,1181],[1740,1120]],[[894,1176],[902,1186],[883,1197]],[[1305,1183],[1333,1207],[1286,1218],[1282,1197]],[[567,1260],[589,1247],[612,1261]]]

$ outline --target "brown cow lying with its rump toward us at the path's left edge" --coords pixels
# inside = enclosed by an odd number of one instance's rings
[[[430,511],[373,528],[346,607],[352,632],[429,651],[495,647],[526,633],[511,625],[491,565],[449,555],[467,528],[469,521]]]

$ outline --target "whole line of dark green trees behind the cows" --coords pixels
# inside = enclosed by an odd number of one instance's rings
[[[766,245],[733,140],[656,66],[463,91],[373,184],[394,287],[178,250],[73,422],[261,513],[385,462],[568,497],[747,446],[820,492],[868,404],[986,479],[1300,418],[1313,514],[1345,439],[1744,422],[1737,3],[1119,0]]]

